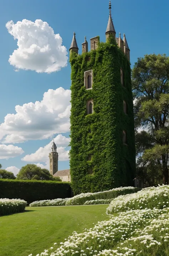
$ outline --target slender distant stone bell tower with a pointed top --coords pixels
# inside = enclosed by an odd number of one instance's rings
[[[57,147],[53,139],[52,144],[52,152],[49,153],[49,161],[50,161],[50,174],[53,175],[58,171],[58,153]]]

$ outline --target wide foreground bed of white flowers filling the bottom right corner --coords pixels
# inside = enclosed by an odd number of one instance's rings
[[[168,255],[169,208],[130,210],[56,243],[38,256]]]

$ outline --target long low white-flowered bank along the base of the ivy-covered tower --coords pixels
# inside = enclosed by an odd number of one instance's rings
[[[139,188],[121,187],[97,193],[82,193],[80,195],[75,195],[72,198],[69,198],[66,202],[66,205],[83,205],[86,201],[97,199],[112,199],[116,198],[119,195],[132,194],[139,190]]]

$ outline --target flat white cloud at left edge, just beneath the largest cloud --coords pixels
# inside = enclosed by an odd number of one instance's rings
[[[20,156],[22,153],[24,153],[22,148],[14,145],[6,146],[4,144],[0,144],[0,159],[8,159],[11,157]]]

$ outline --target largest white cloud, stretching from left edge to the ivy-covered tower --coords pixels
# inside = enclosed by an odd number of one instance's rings
[[[2,143],[20,143],[47,139],[57,133],[70,131],[71,91],[62,87],[48,90],[41,101],[15,107],[0,125]]]

